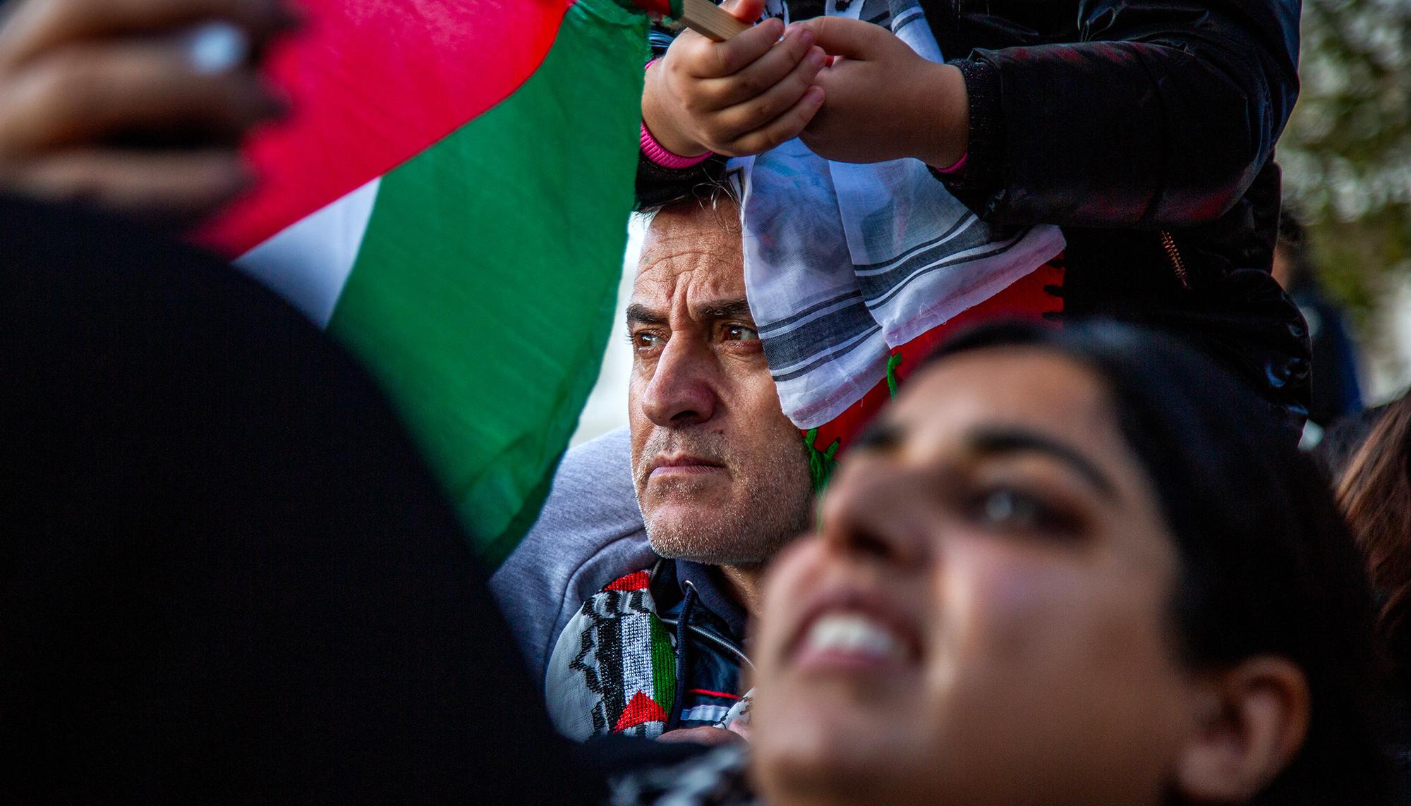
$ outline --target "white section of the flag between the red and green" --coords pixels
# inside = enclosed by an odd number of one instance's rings
[[[357,261],[381,182],[374,179],[289,224],[241,255],[236,265],[289,300],[315,324],[327,327]]]

